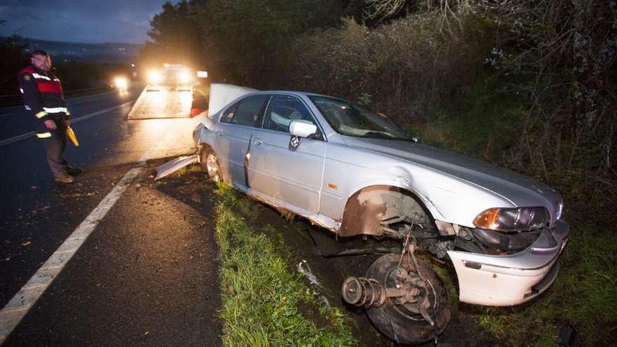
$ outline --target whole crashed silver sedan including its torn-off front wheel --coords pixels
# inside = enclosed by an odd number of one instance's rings
[[[399,343],[435,339],[450,318],[440,279],[416,252],[452,263],[470,304],[521,304],[557,276],[569,236],[557,191],[419,144],[360,104],[215,84],[194,141],[212,179],[339,237],[400,240],[401,252],[341,289]]]

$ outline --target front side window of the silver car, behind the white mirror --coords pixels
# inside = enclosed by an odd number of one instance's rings
[[[313,116],[304,104],[295,97],[275,95],[264,117],[264,129],[289,132],[292,121],[307,121],[315,124]]]

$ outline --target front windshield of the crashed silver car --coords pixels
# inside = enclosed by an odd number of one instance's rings
[[[333,97],[309,97],[336,132],[355,137],[409,140],[405,132],[390,118],[366,107]]]

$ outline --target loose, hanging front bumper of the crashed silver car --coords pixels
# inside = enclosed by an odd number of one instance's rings
[[[537,297],[557,278],[557,258],[569,226],[557,221],[526,250],[503,256],[449,251],[459,278],[459,299],[469,304],[511,306]]]

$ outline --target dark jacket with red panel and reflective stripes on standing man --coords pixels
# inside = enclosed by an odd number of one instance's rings
[[[46,130],[43,122],[50,118],[69,118],[60,79],[54,74],[43,72],[31,65],[19,72],[18,82],[24,106],[39,121],[39,130]]]

